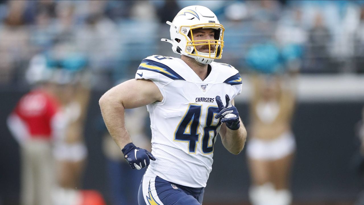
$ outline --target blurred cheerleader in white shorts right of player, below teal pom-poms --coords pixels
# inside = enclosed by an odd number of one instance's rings
[[[290,205],[290,169],[296,142],[291,128],[295,96],[288,76],[252,78],[250,140],[246,153],[252,185],[253,205]]]

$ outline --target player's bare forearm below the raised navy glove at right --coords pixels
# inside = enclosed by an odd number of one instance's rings
[[[231,102],[234,105],[234,100]],[[244,124],[240,120],[240,128],[237,130],[232,130],[226,127],[225,123],[222,123],[220,127],[219,134],[221,136],[221,141],[223,146],[231,152],[232,154],[239,154],[245,145],[246,140],[246,129],[244,127]]]

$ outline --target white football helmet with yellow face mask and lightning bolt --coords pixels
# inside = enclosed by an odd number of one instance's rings
[[[189,56],[202,64],[209,64],[214,59],[221,59],[225,28],[219,24],[219,20],[210,9],[198,5],[185,7],[177,13],[172,23],[167,21],[167,24],[171,26],[171,40],[165,38],[161,40],[171,43],[174,53]],[[215,39],[194,40],[193,30],[197,28],[215,29]],[[209,45],[209,53],[198,51],[196,46],[200,45]],[[214,46],[215,49],[211,50],[211,46]]]

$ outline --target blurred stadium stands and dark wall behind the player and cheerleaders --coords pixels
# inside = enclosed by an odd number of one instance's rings
[[[19,146],[6,118],[29,91],[25,71],[30,59],[52,50],[87,59],[91,98],[84,138],[89,154],[82,188],[98,190],[108,202],[98,99],[133,78],[143,58],[178,57],[160,39],[169,38],[165,22],[187,5],[210,8],[226,29],[219,62],[242,75],[236,105],[245,124],[250,71],[299,69],[294,204],[355,203],[364,188],[355,160],[364,106],[364,1],[0,0],[0,205],[19,204]],[[248,204],[249,184],[245,152],[231,155],[218,140],[203,204]]]

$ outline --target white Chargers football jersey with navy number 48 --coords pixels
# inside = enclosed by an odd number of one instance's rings
[[[158,86],[162,102],[147,105],[152,131],[152,154],[147,172],[188,187],[205,187],[213,163],[214,142],[220,129],[215,97],[225,105],[241,92],[241,77],[233,66],[210,63],[205,80],[180,58],[153,55],[135,74]]]

